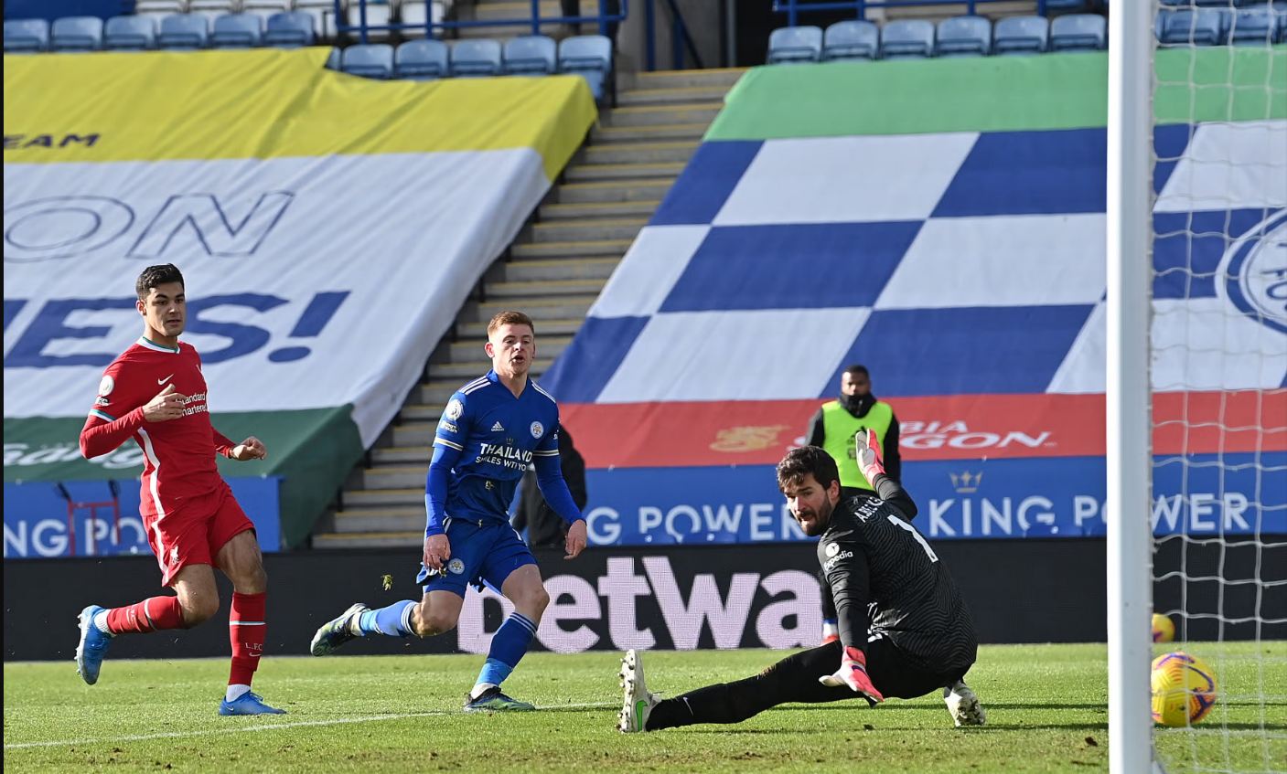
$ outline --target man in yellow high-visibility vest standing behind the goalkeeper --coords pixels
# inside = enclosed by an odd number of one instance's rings
[[[840,495],[851,496],[871,491],[871,483],[862,476],[855,460],[853,436],[874,429],[880,440],[880,455],[885,473],[902,481],[902,460],[898,456],[898,419],[889,404],[871,395],[871,377],[862,365],[851,365],[840,374],[840,397],[813,414],[806,435],[810,446],[821,446],[840,469]]]

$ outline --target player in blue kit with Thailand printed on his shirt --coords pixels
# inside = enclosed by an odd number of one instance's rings
[[[417,582],[425,595],[371,609],[358,603],[313,636],[314,656],[367,635],[431,636],[450,631],[465,590],[490,586],[514,603],[492,636],[486,662],[465,699],[466,711],[532,710],[501,683],[526,653],[550,595],[532,552],[510,526],[508,507],[523,472],[534,463],[541,494],[571,526],[566,557],[586,548],[586,521],[559,465],[559,405],[528,378],[537,355],[535,328],[521,312],[488,324],[492,370],[448,401],[434,437],[425,483],[425,553]]]

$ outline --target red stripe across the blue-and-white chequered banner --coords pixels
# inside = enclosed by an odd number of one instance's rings
[[[591,468],[776,464],[821,400],[569,404]],[[905,460],[1102,456],[1103,395],[956,395],[889,401]],[[1154,454],[1287,450],[1287,390],[1158,393]]]

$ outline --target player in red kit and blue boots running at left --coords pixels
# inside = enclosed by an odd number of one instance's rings
[[[148,266],[135,283],[143,337],[103,373],[98,399],[81,429],[86,458],[134,440],[143,449],[139,510],[161,566],[161,584],[176,597],[152,597],[126,607],[91,604],[81,611],[76,671],[93,685],[112,638],[162,629],[189,629],[219,611],[214,567],[233,581],[228,626],[233,644],[228,693],[220,715],[279,715],[251,693],[264,649],[268,576],[255,525],[219,477],[215,454],[264,459],[259,438],[233,444],[210,424],[201,356],[179,341],[187,316],[183,275],[172,264]]]

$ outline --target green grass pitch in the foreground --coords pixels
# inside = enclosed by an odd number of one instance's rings
[[[362,643],[350,648],[360,652]],[[1161,647],[1160,647],[1161,648]],[[1287,643],[1189,644],[1225,696],[1196,732],[1160,729],[1171,774],[1287,769]],[[181,652],[181,643],[176,645]],[[1160,651],[1161,652],[1161,651]],[[739,679],[770,651],[653,652],[649,688]],[[1107,769],[1103,645],[990,645],[969,681],[988,712],[952,728],[941,698],[786,706],[739,725],[620,734],[619,654],[528,656],[506,689],[539,712],[466,715],[480,656],[265,658],[288,715],[219,717],[221,660],[5,663],[5,771],[1093,771]],[[1254,697],[1268,694],[1269,703]],[[1268,728],[1268,735],[1260,729]]]

